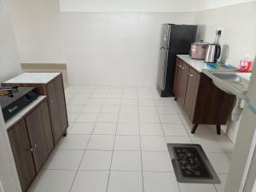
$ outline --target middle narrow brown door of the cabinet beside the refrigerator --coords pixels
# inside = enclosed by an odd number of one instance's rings
[[[177,97],[177,101],[183,107],[186,98],[187,84],[188,84],[188,73],[189,66],[183,63],[183,67],[180,74],[180,87],[179,87],[179,96]]]

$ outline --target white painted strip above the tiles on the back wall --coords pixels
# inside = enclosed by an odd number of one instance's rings
[[[198,0],[60,0],[61,11],[71,12],[186,12]]]

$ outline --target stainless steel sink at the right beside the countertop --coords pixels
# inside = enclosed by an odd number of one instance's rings
[[[212,71],[205,70],[204,73],[212,79],[220,90],[223,90],[230,95],[238,96],[241,99],[245,99],[247,95],[249,80],[244,79],[241,73],[233,71]]]

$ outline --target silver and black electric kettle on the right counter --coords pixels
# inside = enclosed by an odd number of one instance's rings
[[[217,62],[221,54],[221,47],[219,44],[209,44],[206,54],[206,62],[214,63]]]

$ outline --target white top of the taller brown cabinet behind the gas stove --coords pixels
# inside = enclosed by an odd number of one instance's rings
[[[60,73],[21,73],[13,79],[3,83],[12,84],[47,84]]]

